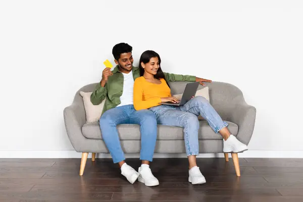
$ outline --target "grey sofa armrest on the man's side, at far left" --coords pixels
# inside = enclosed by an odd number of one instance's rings
[[[64,109],[64,123],[67,135],[76,151],[80,151],[81,142],[85,141],[82,126],[86,123],[85,111],[73,103]]]

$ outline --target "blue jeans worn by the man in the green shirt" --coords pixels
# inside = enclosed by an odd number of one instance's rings
[[[153,161],[157,140],[157,120],[153,112],[149,110],[136,111],[133,105],[120,106],[106,111],[101,116],[99,123],[103,140],[112,155],[114,163],[125,160],[116,127],[118,124],[140,125],[140,160]]]

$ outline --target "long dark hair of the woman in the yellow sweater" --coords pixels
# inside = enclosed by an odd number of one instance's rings
[[[149,51],[148,50],[148,51],[144,51],[142,53],[142,55],[140,57],[140,60],[139,60],[140,76],[143,76],[143,74],[144,74],[144,68],[142,67],[141,63],[146,64],[146,63],[149,62],[149,60],[151,58],[156,58],[156,57],[159,60],[159,69],[157,71],[157,74],[155,75],[155,78],[156,79],[164,79],[166,81],[168,87],[170,87],[169,84],[168,84],[168,82],[167,82],[167,80],[166,80],[166,78],[165,78],[165,75],[164,75],[164,73],[163,73],[163,71],[161,69],[161,58],[160,58],[159,54],[157,54],[155,51]]]

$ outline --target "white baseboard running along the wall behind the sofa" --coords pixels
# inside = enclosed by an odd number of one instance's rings
[[[139,158],[139,154],[126,154],[126,158]],[[200,154],[197,158],[223,158],[223,154]],[[81,158],[75,150],[0,150],[0,158]],[[91,153],[88,155],[91,158]],[[111,159],[109,154],[97,154],[96,158]],[[155,154],[154,158],[186,158],[185,154]],[[303,158],[303,150],[247,150],[239,158]]]

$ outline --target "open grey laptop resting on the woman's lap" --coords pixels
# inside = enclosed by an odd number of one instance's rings
[[[167,103],[160,103],[162,105],[174,105],[174,106],[182,106],[185,105],[196,93],[198,86],[200,82],[191,82],[187,83],[185,86],[185,89],[183,91],[181,100],[179,100],[179,103],[172,103],[172,102],[167,102]]]

